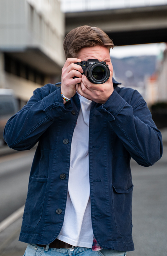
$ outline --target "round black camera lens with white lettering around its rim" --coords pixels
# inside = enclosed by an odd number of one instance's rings
[[[85,69],[85,75],[91,83],[104,84],[110,77],[110,69],[102,62],[95,62]]]

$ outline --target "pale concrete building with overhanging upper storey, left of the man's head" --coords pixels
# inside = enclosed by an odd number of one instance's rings
[[[20,107],[60,76],[64,34],[59,0],[0,1],[0,88],[13,89]]]

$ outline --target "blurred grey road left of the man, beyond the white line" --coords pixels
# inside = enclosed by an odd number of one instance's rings
[[[35,149],[0,157],[0,222],[25,204]]]

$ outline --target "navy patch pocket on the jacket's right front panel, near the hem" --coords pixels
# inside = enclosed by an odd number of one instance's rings
[[[122,236],[132,235],[132,191],[116,189],[111,185],[115,224]]]

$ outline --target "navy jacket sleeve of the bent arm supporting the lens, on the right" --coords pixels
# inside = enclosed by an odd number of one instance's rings
[[[162,156],[161,133],[138,91],[133,90],[129,103],[124,98],[114,90],[108,101],[97,109],[110,122],[131,157],[140,165],[153,165]]]

